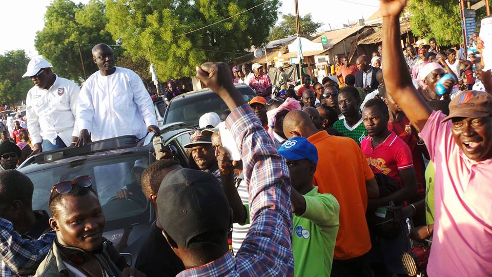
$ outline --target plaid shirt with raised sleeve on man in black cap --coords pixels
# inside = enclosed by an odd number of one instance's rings
[[[226,121],[242,154],[251,227],[241,249],[178,276],[293,276],[290,175],[272,139],[244,104]]]

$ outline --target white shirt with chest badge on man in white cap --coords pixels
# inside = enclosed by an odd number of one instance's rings
[[[79,92],[77,84],[58,76],[48,90],[37,86],[29,90],[26,119],[32,144],[43,140],[55,144],[59,136],[66,146],[70,146],[72,136],[79,134],[74,128]]]

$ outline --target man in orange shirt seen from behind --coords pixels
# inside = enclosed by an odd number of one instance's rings
[[[308,114],[289,112],[283,122],[287,138],[303,136],[318,149],[314,185],[320,193],[333,194],[340,204],[340,227],[331,276],[371,276],[365,254],[371,239],[365,211],[367,198],[377,198],[379,189],[364,154],[354,140],[318,131]]]

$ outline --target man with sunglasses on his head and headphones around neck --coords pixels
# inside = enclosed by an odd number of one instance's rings
[[[103,238],[106,223],[90,176],[51,188],[50,227],[56,239],[35,276],[145,276],[128,268],[112,243]]]

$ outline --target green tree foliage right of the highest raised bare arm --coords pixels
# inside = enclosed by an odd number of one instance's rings
[[[449,0],[411,0],[410,28],[416,36],[435,37],[439,45],[463,41],[460,5]]]

